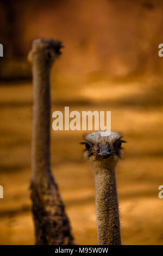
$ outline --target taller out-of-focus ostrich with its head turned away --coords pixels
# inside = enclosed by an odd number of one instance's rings
[[[36,245],[73,245],[70,223],[51,172],[50,71],[61,43],[35,39],[28,59],[33,64],[32,210]]]

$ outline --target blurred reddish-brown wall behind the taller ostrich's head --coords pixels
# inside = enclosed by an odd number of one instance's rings
[[[65,45],[59,74],[161,74],[161,0],[1,1],[0,41],[5,58],[26,58],[36,37]]]

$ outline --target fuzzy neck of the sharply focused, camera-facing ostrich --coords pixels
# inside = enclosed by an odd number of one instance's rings
[[[115,168],[95,170],[98,245],[121,245]]]

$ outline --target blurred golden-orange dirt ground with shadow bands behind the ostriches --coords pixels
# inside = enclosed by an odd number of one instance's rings
[[[157,80],[52,78],[52,112],[111,111],[111,129],[127,140],[117,168],[123,245],[163,245],[162,102]],[[0,244],[33,245],[29,180],[32,83],[0,86]],[[52,127],[52,126],[51,126]],[[97,245],[93,172],[83,161],[83,131],[53,131],[52,169],[79,245]]]

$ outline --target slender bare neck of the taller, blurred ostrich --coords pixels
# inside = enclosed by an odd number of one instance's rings
[[[32,169],[35,181],[46,179],[50,170],[50,68],[42,61],[33,63],[33,138]],[[43,181],[42,180],[42,181]]]

